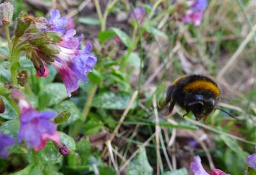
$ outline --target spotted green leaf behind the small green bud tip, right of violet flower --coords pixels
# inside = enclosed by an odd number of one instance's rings
[[[62,112],[63,110],[68,110],[68,112],[71,113],[70,118],[68,118],[67,121],[65,121],[65,123],[63,123],[62,125],[69,125],[70,123],[73,123],[81,117],[81,112],[77,108],[76,104],[71,101],[65,100],[64,102],[61,102],[60,104],[54,106],[54,109],[58,113]]]

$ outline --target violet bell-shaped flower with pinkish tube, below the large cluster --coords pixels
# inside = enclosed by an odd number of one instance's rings
[[[38,112],[33,109],[18,89],[13,89],[11,96],[20,108],[19,142],[25,141],[26,145],[34,148],[35,151],[45,148],[48,139],[60,142],[60,133],[50,120],[56,116],[54,112]]]

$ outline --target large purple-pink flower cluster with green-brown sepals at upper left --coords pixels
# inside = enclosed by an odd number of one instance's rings
[[[58,10],[51,11],[49,19],[21,15],[19,20],[32,23],[21,34],[23,39],[20,40],[26,41],[21,50],[26,51],[33,62],[36,75],[47,76],[45,63],[53,65],[61,75],[68,96],[71,96],[79,88],[79,81],[88,80],[87,75],[97,62],[97,58],[90,53],[92,45],[88,43],[84,50],[80,49],[81,36],[75,36],[72,20],[61,17]],[[17,33],[20,32],[19,20]]]

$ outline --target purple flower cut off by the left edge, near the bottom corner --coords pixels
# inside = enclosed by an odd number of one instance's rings
[[[0,157],[1,158],[7,158],[9,151],[8,148],[10,146],[13,146],[14,139],[12,137],[5,135],[3,133],[0,133]]]

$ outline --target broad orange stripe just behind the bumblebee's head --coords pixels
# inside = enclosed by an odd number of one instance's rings
[[[216,95],[216,97],[220,96],[220,89],[216,86],[213,82],[207,80],[195,80],[193,82],[189,82],[184,87],[185,91],[197,90],[197,89],[204,89],[207,91],[211,91]]]

